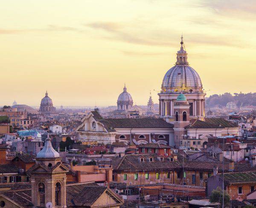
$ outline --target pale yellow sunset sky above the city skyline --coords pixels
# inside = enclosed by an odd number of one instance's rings
[[[2,0],[0,105],[155,103],[180,36],[207,96],[256,92],[255,0]]]

